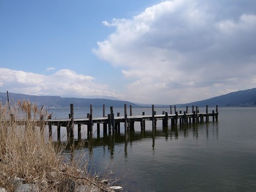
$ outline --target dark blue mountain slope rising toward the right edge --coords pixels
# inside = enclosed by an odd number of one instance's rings
[[[232,92],[201,101],[177,104],[176,106],[205,106],[206,104],[208,106],[215,106],[216,104],[218,106],[256,106],[256,88]]]

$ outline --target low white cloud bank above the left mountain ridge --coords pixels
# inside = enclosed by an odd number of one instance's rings
[[[13,93],[65,95],[66,97],[112,96],[122,98],[109,91],[106,84],[94,82],[92,76],[77,74],[62,69],[52,75],[41,75],[25,71],[0,68],[0,90]]]

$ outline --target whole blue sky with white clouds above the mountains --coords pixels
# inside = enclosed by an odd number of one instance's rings
[[[0,0],[0,92],[177,104],[256,87],[254,0]]]

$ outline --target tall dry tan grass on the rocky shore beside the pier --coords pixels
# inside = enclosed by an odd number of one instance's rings
[[[67,179],[98,185],[77,171],[80,162],[63,161],[65,146],[46,141],[43,124],[38,124],[42,115],[47,117],[47,111],[29,101],[17,101],[11,108],[0,103],[0,187],[14,191],[10,180],[15,177],[37,184],[41,191],[59,191]]]

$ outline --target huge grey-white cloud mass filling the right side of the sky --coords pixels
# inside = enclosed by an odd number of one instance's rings
[[[126,93],[132,101],[188,102],[249,89],[256,77],[256,8],[244,4],[162,2],[104,22],[116,31],[93,51],[134,80]]]

